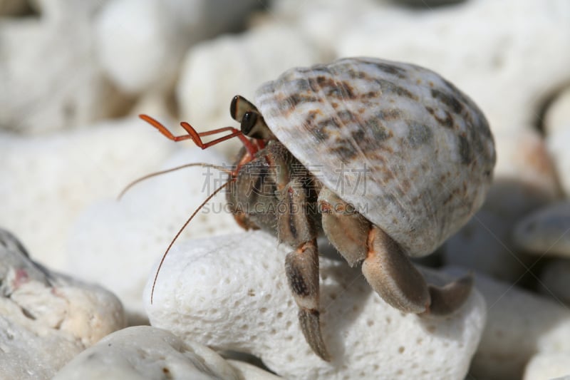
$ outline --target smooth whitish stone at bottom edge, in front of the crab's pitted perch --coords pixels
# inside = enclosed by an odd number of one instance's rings
[[[253,376],[244,377],[248,374]],[[249,380],[256,379],[256,375],[257,379],[278,379],[261,369],[236,369],[233,362],[207,346],[183,342],[166,330],[137,326],[101,339],[73,358],[53,379]]]

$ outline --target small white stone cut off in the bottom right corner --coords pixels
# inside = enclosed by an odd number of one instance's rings
[[[570,352],[541,352],[532,356],[524,369],[523,380],[570,379]]]

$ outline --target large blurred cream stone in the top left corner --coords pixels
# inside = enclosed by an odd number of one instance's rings
[[[84,1],[42,11],[39,19],[0,22],[1,130],[70,130],[124,111],[128,99],[93,59],[90,16],[100,4]]]

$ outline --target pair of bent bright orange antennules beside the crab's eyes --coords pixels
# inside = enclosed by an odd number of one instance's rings
[[[145,120],[147,123],[149,123],[153,127],[157,128],[157,130],[159,130],[160,133],[162,133],[162,135],[165,135],[166,138],[169,138],[172,141],[182,141],[182,140],[188,140],[189,138],[191,138],[192,141],[194,141],[194,143],[196,145],[198,145],[200,148],[206,149],[212,145],[216,145],[217,143],[222,143],[222,141],[229,140],[230,138],[237,137],[237,138],[239,138],[239,140],[242,141],[242,143],[244,144],[244,146],[247,150],[247,153],[249,153],[249,155],[251,155],[252,157],[254,157],[254,154],[257,152],[257,150],[259,150],[252,143],[252,141],[249,140],[249,138],[247,138],[247,136],[242,133],[241,130],[238,130],[238,129],[233,128],[233,127],[222,127],[222,128],[207,130],[206,132],[197,132],[195,130],[195,128],[192,127],[192,125],[190,125],[189,123],[186,123],[185,121],[182,121],[182,123],[180,123],[180,125],[182,126],[182,128],[184,128],[184,130],[188,134],[187,135],[175,136],[175,135],[172,135],[170,130],[168,130],[158,120],[151,118],[149,115],[143,114],[143,115],[138,115],[138,117],[141,118],[142,120]],[[215,140],[209,141],[207,143],[202,142],[202,138],[201,138],[202,136],[215,135],[216,133],[225,132],[227,130],[231,131],[232,133],[230,133],[229,135],[222,136],[221,138],[217,138]]]

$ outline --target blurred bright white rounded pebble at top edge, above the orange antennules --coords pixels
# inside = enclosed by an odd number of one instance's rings
[[[160,2],[140,0],[110,1],[98,16],[98,59],[123,91],[172,86],[186,42],[167,16]]]

